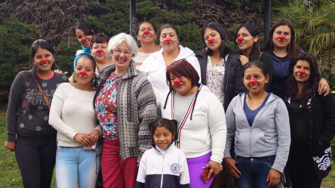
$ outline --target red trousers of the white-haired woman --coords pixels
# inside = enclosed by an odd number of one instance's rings
[[[101,172],[104,188],[134,188],[137,157],[120,158],[119,140],[102,141]]]

